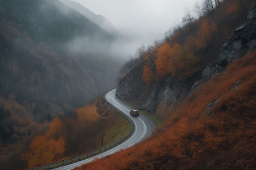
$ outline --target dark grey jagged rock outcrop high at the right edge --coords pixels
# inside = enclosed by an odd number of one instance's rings
[[[245,16],[247,23],[241,25],[233,36],[226,40],[216,61],[209,63],[203,70],[202,78],[208,80],[226,67],[229,62],[249,53],[256,46],[256,2],[251,4],[249,13]]]

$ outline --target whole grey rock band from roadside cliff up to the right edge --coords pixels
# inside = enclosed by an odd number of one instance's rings
[[[169,76],[167,78],[159,78],[150,85],[146,85],[143,82],[142,67],[138,65],[115,87],[117,88],[117,96],[124,101],[136,101],[140,109],[151,113],[156,111],[159,103],[163,100],[170,106],[175,101],[184,100],[199,85],[199,81],[195,82],[196,80],[208,80],[212,78],[214,74],[224,70],[229,62],[244,56],[255,48],[256,2],[251,5],[246,19],[248,21],[237,28],[233,36],[226,40],[216,61],[209,63],[199,75],[195,75],[185,82],[179,82]],[[150,63],[154,62],[155,60],[151,59]],[[142,63],[145,62],[141,61],[141,65],[143,65]],[[213,104],[210,104],[208,107],[211,105]],[[208,116],[210,116],[210,113]]]

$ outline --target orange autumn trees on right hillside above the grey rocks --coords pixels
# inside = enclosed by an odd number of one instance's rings
[[[171,75],[177,80],[186,80],[196,73],[201,73],[209,62],[218,56],[224,41],[232,35],[234,29],[245,22],[245,14],[251,1],[225,1],[225,5],[211,7],[203,1],[201,13],[193,18],[190,11],[183,18],[183,26],[177,25],[166,32],[163,41],[156,41],[147,50],[157,56],[155,73],[148,73],[145,68],[144,79],[149,83],[152,79]],[[211,1],[209,1],[211,2]],[[188,17],[190,19],[188,19]],[[146,53],[142,52],[141,56]],[[154,74],[149,76],[147,74]]]

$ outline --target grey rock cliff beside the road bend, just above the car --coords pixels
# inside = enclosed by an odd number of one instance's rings
[[[176,78],[169,76],[155,80],[150,85],[144,83],[143,67],[147,66],[148,70],[153,71],[156,62],[156,57],[152,53],[147,53],[141,58],[114,87],[117,89],[117,97],[122,101],[136,101],[139,109],[150,113],[155,112],[162,100],[172,104],[174,101],[184,99],[194,82],[178,82]]]

